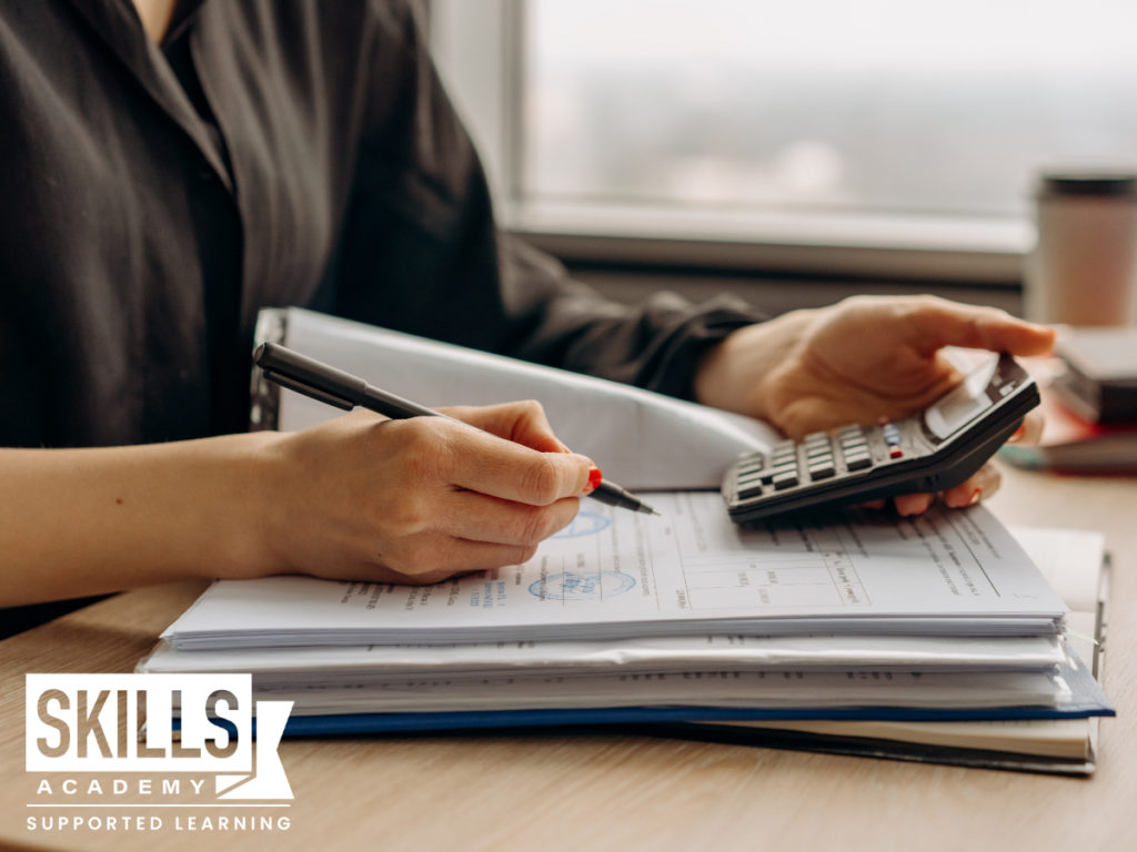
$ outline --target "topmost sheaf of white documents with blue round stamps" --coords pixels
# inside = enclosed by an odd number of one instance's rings
[[[705,634],[1056,634],[1065,605],[985,508],[796,516],[748,529],[713,492],[662,517],[584,503],[533,559],[438,586],[222,580],[164,634],[180,650]]]

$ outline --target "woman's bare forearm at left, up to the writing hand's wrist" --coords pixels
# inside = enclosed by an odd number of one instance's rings
[[[258,459],[272,440],[0,450],[0,605],[266,570]]]

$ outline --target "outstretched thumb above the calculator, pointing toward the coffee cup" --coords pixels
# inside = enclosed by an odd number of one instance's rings
[[[1040,356],[1054,344],[1053,328],[1027,323],[997,308],[921,296],[913,300],[907,318],[929,353],[943,346],[965,346]]]

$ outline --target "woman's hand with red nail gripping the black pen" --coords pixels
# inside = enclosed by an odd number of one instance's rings
[[[267,559],[249,576],[434,583],[516,565],[599,482],[536,402],[445,412],[470,427],[356,412],[262,444]]]

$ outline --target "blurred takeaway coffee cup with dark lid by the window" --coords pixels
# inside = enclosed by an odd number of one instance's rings
[[[1039,323],[1132,325],[1137,316],[1137,170],[1045,172],[1026,314]]]

